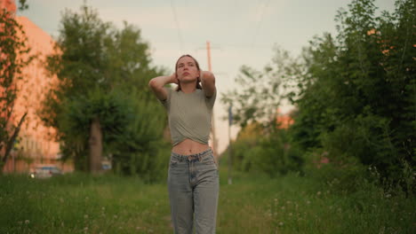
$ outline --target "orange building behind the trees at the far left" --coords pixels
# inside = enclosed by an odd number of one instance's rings
[[[15,2],[12,0],[0,0],[0,7],[16,11]],[[26,172],[39,163],[60,163],[60,145],[53,139],[55,130],[45,127],[36,115],[47,91],[54,82],[57,82],[57,78],[48,75],[44,68],[46,55],[52,53],[54,41],[51,35],[45,33],[28,18],[16,17],[16,21],[23,27],[28,37],[30,54],[37,55],[37,58],[23,69],[23,79],[16,82],[19,93],[15,101],[12,121],[17,124],[24,113],[28,115],[20,129],[20,140],[4,167],[5,173]],[[64,170],[71,170],[68,165],[60,166]]]

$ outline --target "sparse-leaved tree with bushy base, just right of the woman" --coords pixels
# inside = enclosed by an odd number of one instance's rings
[[[302,67],[287,51],[275,50],[275,57],[262,71],[242,66],[236,77],[239,87],[221,97],[226,106],[233,106],[234,122],[241,127],[233,143],[233,164],[270,176],[299,172],[303,164],[298,147],[277,121],[279,105],[292,95],[292,82],[288,81]]]

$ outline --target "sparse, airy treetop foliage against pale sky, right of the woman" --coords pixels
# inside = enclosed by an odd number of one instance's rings
[[[262,71],[250,66],[242,66],[236,77],[238,89],[221,95],[225,106],[232,106],[233,121],[244,128],[252,122],[268,124],[276,119],[277,108],[284,97],[281,87],[284,75],[291,75],[284,70],[293,61],[287,51],[276,48],[276,58]]]

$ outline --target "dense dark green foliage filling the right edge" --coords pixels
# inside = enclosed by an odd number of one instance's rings
[[[373,1],[352,1],[340,11],[338,35],[316,37],[304,51],[308,75],[293,95],[291,128],[305,149],[321,148],[333,163],[372,165],[399,182],[403,163],[414,167],[416,92],[414,1],[375,17]],[[413,33],[412,33],[413,32]]]

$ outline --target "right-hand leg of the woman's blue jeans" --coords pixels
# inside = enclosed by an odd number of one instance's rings
[[[215,233],[218,193],[220,190],[217,166],[210,157],[196,164],[197,183],[194,187],[196,234]]]

